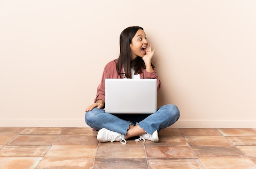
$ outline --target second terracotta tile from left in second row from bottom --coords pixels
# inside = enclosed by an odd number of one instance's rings
[[[53,145],[45,157],[84,157],[94,158],[97,146],[94,145]]]

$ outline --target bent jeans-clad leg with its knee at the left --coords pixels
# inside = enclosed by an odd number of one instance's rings
[[[106,128],[124,135],[126,135],[130,126],[130,122],[122,120],[110,113],[105,113],[103,109],[98,109],[97,107],[85,113],[85,122],[88,126],[96,130]]]

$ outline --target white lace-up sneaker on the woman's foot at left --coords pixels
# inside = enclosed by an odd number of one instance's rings
[[[99,130],[97,139],[100,142],[120,141],[122,144],[126,144],[126,140],[124,140],[124,138],[122,138],[121,136],[122,135],[120,133],[103,128]]]

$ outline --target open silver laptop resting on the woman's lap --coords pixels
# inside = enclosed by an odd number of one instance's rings
[[[155,113],[157,79],[106,79],[106,113]]]

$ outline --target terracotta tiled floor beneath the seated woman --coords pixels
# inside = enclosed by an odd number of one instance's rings
[[[0,169],[256,169],[256,129],[167,128],[98,142],[90,128],[0,127]]]

